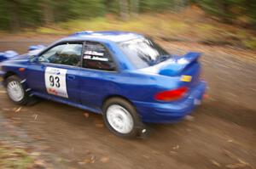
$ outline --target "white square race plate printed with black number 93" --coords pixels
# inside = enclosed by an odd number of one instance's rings
[[[46,67],[44,72],[44,81],[47,93],[68,98],[66,86],[67,70]]]

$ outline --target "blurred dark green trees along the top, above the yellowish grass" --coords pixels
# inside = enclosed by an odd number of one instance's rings
[[[227,23],[256,25],[255,0],[0,0],[0,29],[20,31],[105,14],[177,12],[191,4]]]

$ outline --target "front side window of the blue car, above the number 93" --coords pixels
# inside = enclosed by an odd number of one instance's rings
[[[50,48],[44,54],[39,56],[38,61],[52,64],[78,66],[80,64],[82,49],[82,43],[63,43]]]

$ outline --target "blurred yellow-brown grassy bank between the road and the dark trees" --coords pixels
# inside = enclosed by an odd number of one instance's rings
[[[69,20],[36,30],[26,30],[26,34],[68,35],[77,31],[136,31],[150,37],[183,39],[192,42],[230,44],[236,47],[256,49],[256,32],[234,25],[224,25],[214,20],[202,19],[193,14],[141,14],[127,21],[117,16],[94,19]],[[1,34],[1,32],[0,32]]]

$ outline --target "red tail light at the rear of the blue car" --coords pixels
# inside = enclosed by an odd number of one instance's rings
[[[172,101],[175,99],[180,99],[185,93],[187,93],[188,87],[180,87],[174,90],[166,90],[155,94],[154,99],[159,101]]]

